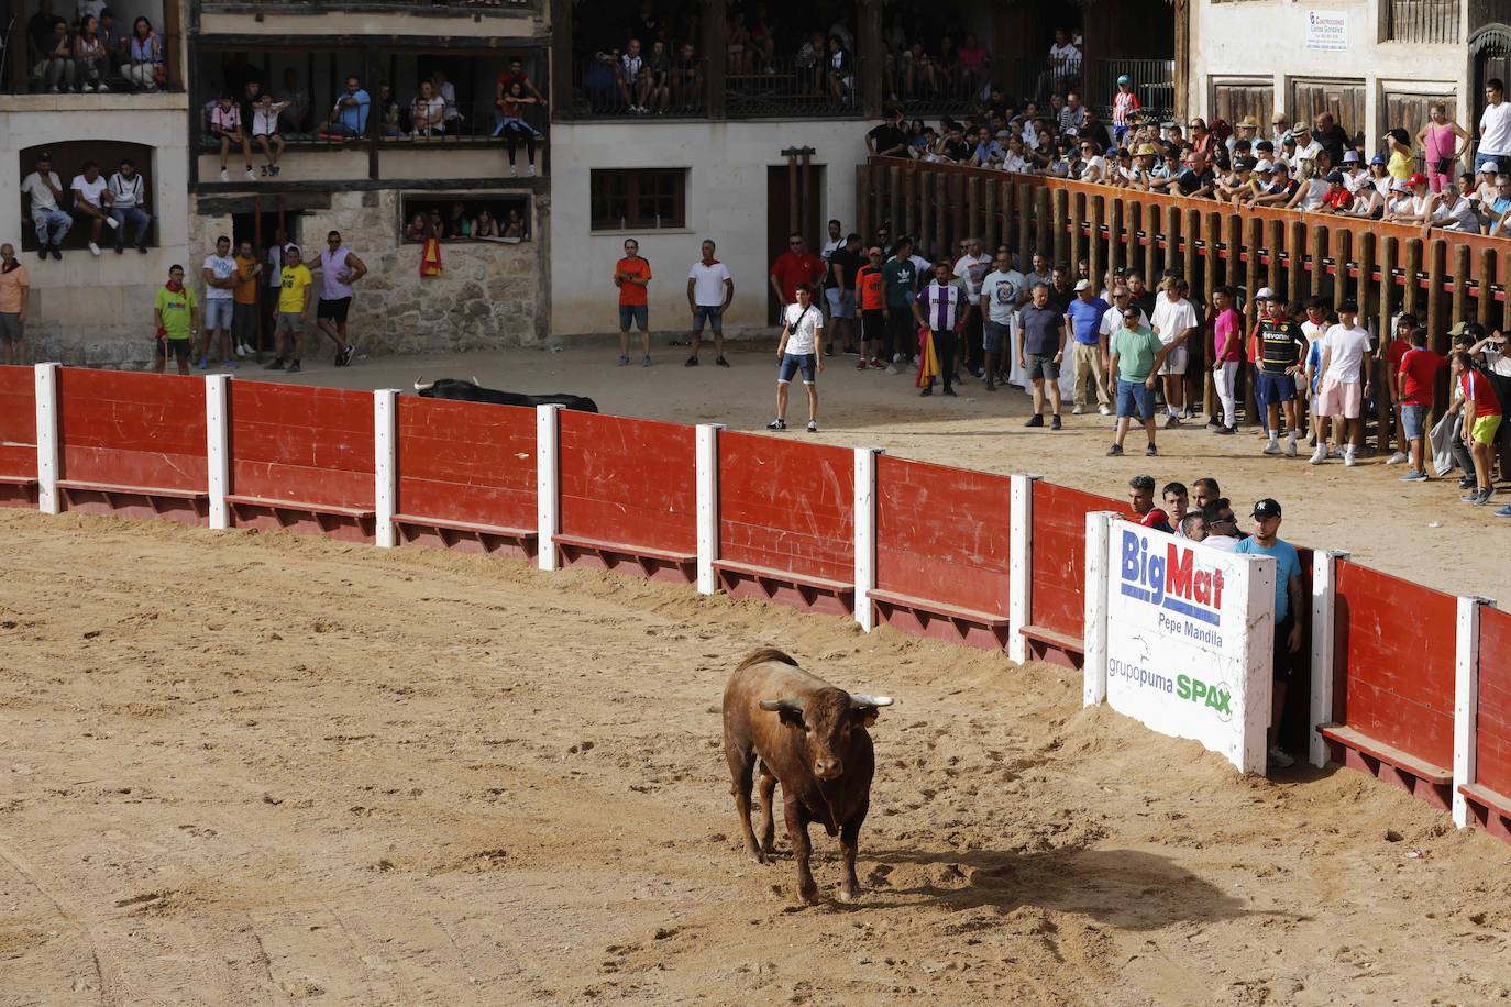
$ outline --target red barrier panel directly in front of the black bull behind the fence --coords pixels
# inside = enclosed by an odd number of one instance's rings
[[[535,557],[535,411],[399,397],[400,540]]]

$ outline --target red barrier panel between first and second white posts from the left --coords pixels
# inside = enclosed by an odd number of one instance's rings
[[[207,521],[202,380],[59,368],[57,439],[65,509]]]

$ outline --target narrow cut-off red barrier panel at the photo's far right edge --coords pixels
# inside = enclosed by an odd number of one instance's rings
[[[1464,787],[1472,818],[1511,839],[1511,613],[1479,610],[1479,716],[1475,784]]]

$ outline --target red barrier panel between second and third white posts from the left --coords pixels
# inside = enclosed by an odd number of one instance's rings
[[[373,397],[231,382],[231,527],[373,540]]]

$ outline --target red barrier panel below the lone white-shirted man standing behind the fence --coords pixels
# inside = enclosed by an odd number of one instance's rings
[[[719,581],[848,614],[855,599],[855,453],[752,433],[719,435]]]

